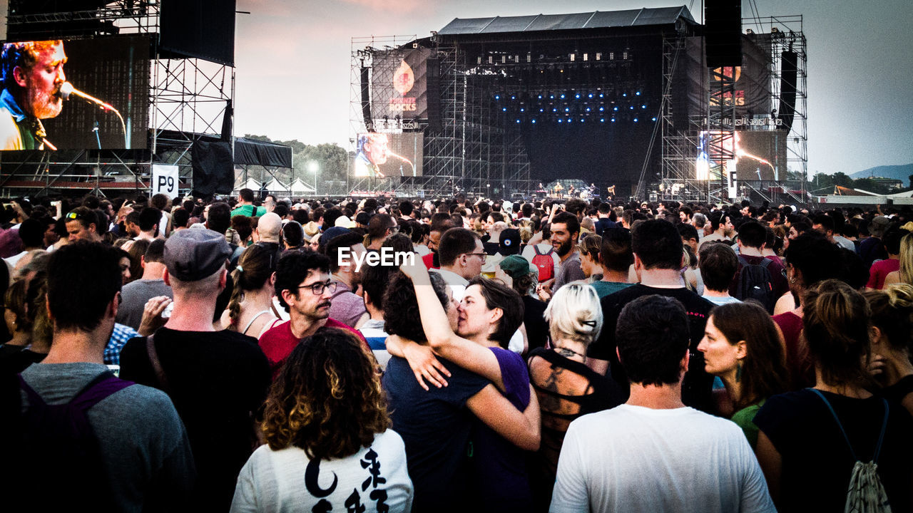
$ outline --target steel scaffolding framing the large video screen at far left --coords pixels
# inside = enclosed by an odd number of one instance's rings
[[[71,20],[111,22],[122,34],[152,36],[150,58],[149,146],[147,150],[73,150],[11,152],[2,158],[0,194],[58,194],[91,188],[148,193],[152,163],[177,165],[182,193],[191,188],[190,149],[194,134],[218,135],[226,108],[235,99],[235,68],[198,58],[167,58],[158,44],[159,2],[119,0],[98,9],[47,15],[9,16],[10,25],[53,24]],[[10,189],[12,179],[25,183]],[[100,184],[104,183],[103,187]]]

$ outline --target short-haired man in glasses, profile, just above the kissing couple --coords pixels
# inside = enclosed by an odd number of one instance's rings
[[[488,254],[482,239],[475,232],[466,228],[450,228],[441,236],[437,256],[441,268],[433,270],[441,273],[453,290],[454,299],[459,301],[463,298],[469,280],[481,274]]]

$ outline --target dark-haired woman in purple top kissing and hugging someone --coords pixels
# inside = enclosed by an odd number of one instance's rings
[[[430,350],[491,380],[518,410],[534,414],[535,447],[511,444],[482,422],[476,423],[471,446],[472,489],[477,508],[484,511],[529,510],[532,494],[523,451],[538,448],[539,404],[531,393],[525,362],[518,354],[505,349],[523,319],[523,302],[519,294],[498,282],[483,277],[474,278],[460,303],[455,333],[446,322],[446,312],[435,298],[427,269],[408,264],[401,268],[415,285],[422,327]],[[435,384],[446,384],[438,372],[444,371],[443,366],[428,358],[429,348],[404,340],[388,340],[387,348],[393,354],[402,351],[410,364],[415,361],[416,376],[420,375]],[[428,363],[417,363],[423,359]]]

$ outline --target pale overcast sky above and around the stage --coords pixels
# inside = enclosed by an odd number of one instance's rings
[[[701,21],[700,3],[684,2]],[[350,138],[352,37],[417,35],[453,18],[682,5],[652,0],[237,0],[236,133],[310,144]],[[757,0],[761,16],[803,15],[809,172],[913,162],[913,2]],[[743,1],[742,16],[752,16]]]

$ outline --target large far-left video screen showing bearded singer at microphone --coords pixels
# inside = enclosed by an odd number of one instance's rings
[[[147,36],[5,43],[0,150],[145,149]]]

